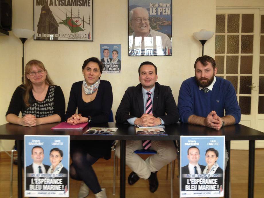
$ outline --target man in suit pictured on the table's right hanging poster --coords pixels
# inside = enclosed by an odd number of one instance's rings
[[[181,167],[181,190],[185,191],[185,185],[187,185],[187,177],[185,174],[202,174],[205,166],[198,164],[200,159],[200,150],[196,146],[191,146],[187,151],[187,158],[189,164]]]

